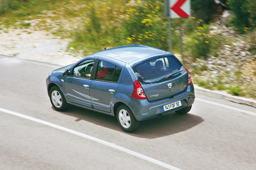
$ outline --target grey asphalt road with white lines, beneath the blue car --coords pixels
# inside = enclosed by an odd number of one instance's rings
[[[0,56],[0,169],[256,169],[256,108],[196,93],[188,114],[125,133],[109,115],[55,111],[58,67]]]

